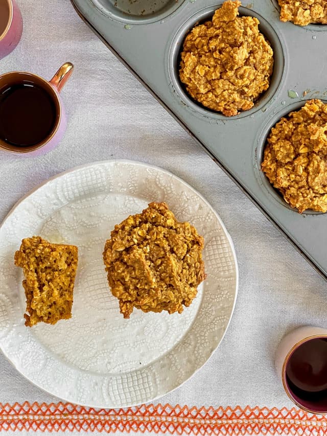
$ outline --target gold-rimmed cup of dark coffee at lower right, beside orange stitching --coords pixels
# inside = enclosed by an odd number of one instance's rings
[[[286,394],[298,407],[327,414],[327,329],[304,326],[284,336],[275,366]]]

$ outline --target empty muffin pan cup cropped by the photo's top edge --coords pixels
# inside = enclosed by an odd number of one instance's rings
[[[149,24],[172,14],[185,0],[91,0],[104,15],[125,24]],[[127,27],[126,27],[127,28]]]

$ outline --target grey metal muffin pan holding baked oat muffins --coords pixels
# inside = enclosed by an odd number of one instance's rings
[[[194,102],[178,77],[185,35],[212,17],[223,0],[71,1],[107,47],[327,280],[327,214],[300,215],[291,209],[260,169],[270,128],[308,99],[327,101],[327,26],[281,22],[277,0],[243,1],[241,15],[259,18],[272,45],[274,70],[270,87],[253,108],[225,117]]]

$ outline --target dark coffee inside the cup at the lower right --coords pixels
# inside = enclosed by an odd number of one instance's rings
[[[299,400],[327,405],[327,339],[302,343],[289,359],[286,380]]]

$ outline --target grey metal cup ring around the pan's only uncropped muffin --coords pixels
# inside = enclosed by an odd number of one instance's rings
[[[216,120],[238,120],[243,117],[248,117],[256,111],[260,110],[273,98],[273,96],[277,92],[279,85],[282,82],[285,64],[284,52],[281,40],[279,39],[275,30],[270,26],[269,22],[253,10],[240,7],[240,16],[252,16],[259,19],[259,30],[270,42],[273,49],[274,66],[270,78],[269,88],[258,98],[258,100],[254,103],[254,106],[251,109],[244,110],[238,115],[232,117],[226,117],[221,112],[216,112],[214,110],[208,109],[202,106],[202,104],[193,100],[186,91],[183,83],[179,79],[180,53],[183,49],[183,42],[186,35],[189,33],[190,30],[193,29],[194,26],[201,24],[204,21],[211,20],[214,12],[221,7],[222,3],[223,2],[216,6],[211,6],[198,11],[196,14],[192,15],[188,20],[186,20],[178,29],[169,51],[169,74],[170,80],[178,97],[190,109],[193,109],[195,112],[198,112],[199,114],[202,114],[202,116],[207,118],[214,118]]]

